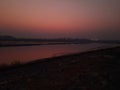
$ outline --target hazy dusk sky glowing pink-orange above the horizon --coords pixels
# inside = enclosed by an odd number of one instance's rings
[[[120,39],[120,0],[0,0],[0,35]]]

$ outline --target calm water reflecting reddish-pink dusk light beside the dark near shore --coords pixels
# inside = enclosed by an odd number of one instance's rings
[[[41,45],[22,47],[0,47],[0,64],[14,61],[29,62],[36,59],[84,52],[108,47],[107,44]]]

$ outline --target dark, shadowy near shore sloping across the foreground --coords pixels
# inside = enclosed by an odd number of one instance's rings
[[[120,47],[0,70],[0,90],[120,90]]]

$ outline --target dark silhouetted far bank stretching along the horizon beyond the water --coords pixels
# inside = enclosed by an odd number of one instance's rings
[[[119,40],[91,40],[91,39],[73,39],[73,38],[58,38],[58,39],[30,39],[16,38],[13,36],[0,36],[0,47],[15,47],[15,46],[33,46],[33,45],[58,45],[58,44],[120,44]]]

